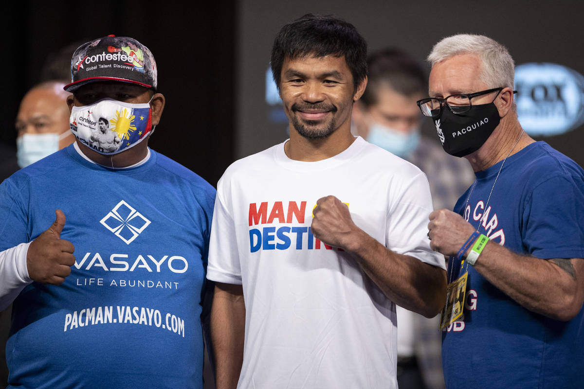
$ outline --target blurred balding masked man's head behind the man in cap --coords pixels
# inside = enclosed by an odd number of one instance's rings
[[[69,110],[64,82],[43,82],[25,94],[16,117],[16,156],[25,167],[70,145]]]

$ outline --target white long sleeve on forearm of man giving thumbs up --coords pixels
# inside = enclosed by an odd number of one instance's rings
[[[21,243],[0,252],[0,311],[8,307],[20,291],[32,282],[26,267],[29,245]]]

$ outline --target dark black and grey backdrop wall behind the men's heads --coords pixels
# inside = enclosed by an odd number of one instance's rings
[[[369,0],[145,0],[3,3],[0,26],[0,143],[15,145],[18,104],[39,80],[47,56],[74,41],[116,34],[147,45],[157,60],[166,96],[155,150],[217,183],[234,159],[286,139],[286,124],[269,120],[265,71],[280,27],[307,12],[333,13],[352,22],[370,51],[396,45],[423,61],[450,34],[486,34],[505,44],[516,64],[554,62],[584,74],[581,17],[584,2],[492,0],[392,2]],[[582,99],[584,101],[584,99]],[[423,128],[433,136],[429,121]],[[584,128],[539,137],[584,165]]]

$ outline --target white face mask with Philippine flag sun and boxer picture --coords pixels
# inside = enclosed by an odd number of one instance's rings
[[[75,138],[103,155],[130,149],[154,131],[149,103],[131,104],[109,98],[72,107],[69,126]]]

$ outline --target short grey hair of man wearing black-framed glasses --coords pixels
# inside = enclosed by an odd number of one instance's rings
[[[515,62],[502,44],[483,35],[453,35],[436,43],[427,61],[434,66],[437,62],[457,54],[477,54],[481,58],[481,81],[487,85],[513,87]]]

